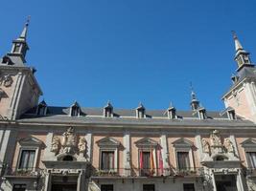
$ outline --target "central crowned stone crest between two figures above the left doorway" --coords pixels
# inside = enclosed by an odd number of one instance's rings
[[[72,154],[75,152],[75,147],[77,143],[77,137],[74,133],[74,128],[70,127],[66,132],[62,134],[61,138],[61,153]]]

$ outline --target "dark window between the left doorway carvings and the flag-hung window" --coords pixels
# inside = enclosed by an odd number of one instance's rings
[[[102,170],[113,170],[115,168],[115,154],[114,151],[102,151]]]

